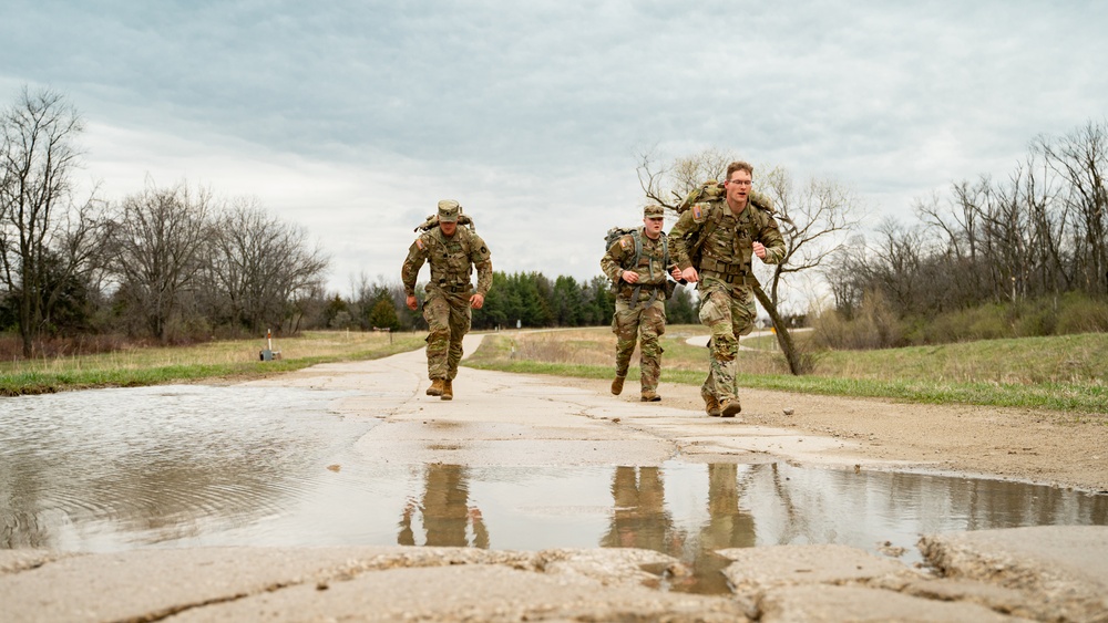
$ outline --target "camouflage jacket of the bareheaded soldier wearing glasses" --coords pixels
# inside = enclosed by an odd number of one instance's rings
[[[763,262],[778,263],[784,258],[784,238],[771,211],[748,203],[736,216],[727,201],[710,201],[694,204],[681,214],[669,231],[669,252],[685,270],[693,266],[693,247],[698,245],[697,271],[725,276],[724,281],[737,285],[746,278],[745,284],[751,285],[757,283],[751,283],[755,241],[766,246]]]

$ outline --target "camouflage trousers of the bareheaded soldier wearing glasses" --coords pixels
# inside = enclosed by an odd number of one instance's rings
[[[735,384],[735,359],[739,354],[739,336],[750,333],[758,310],[751,288],[735,288],[715,280],[700,284],[700,323],[711,332],[708,377],[700,386],[704,396],[718,401],[738,396]]]

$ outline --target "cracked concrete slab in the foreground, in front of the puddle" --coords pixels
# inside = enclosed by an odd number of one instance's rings
[[[648,550],[0,551],[4,621],[1106,621],[1108,528],[933,534],[929,568],[843,546],[720,550],[732,592]],[[1081,552],[1074,555],[1075,552]]]

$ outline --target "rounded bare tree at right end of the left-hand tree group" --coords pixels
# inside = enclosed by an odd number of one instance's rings
[[[219,216],[214,245],[209,280],[229,320],[254,333],[297,331],[297,302],[314,295],[330,262],[307,232],[242,197]]]

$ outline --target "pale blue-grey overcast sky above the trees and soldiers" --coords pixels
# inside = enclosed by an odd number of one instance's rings
[[[1105,118],[1106,27],[1097,0],[3,0],[0,103],[64,94],[107,199],[147,175],[259,197],[343,294],[399,281],[441,198],[497,270],[588,279],[640,222],[646,149],[833,177],[911,222]]]

